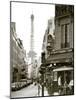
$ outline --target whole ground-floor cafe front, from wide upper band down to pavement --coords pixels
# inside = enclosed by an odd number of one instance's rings
[[[53,93],[58,95],[74,94],[74,61],[73,49],[53,51],[47,63],[52,64]]]

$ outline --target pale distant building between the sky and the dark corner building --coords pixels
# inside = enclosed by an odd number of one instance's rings
[[[54,29],[55,29],[54,18],[50,18],[48,20],[48,25],[43,37],[43,45],[42,45],[42,52],[45,52],[46,59],[50,54],[50,50],[53,50],[54,47]]]

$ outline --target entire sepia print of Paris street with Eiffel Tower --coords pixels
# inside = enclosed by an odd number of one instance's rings
[[[74,5],[11,5],[11,98],[74,95]]]

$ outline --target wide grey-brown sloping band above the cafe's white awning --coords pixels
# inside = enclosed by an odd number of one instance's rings
[[[52,51],[47,58],[47,63],[68,63],[73,62],[73,49],[61,49]]]

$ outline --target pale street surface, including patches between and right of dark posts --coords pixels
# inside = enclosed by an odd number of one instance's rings
[[[39,92],[39,94],[38,94]],[[38,85],[31,84],[28,87],[25,87],[18,91],[11,92],[11,98],[19,98],[19,97],[36,97],[42,96],[42,88],[38,91]],[[44,96],[49,96],[48,91],[44,87]]]

